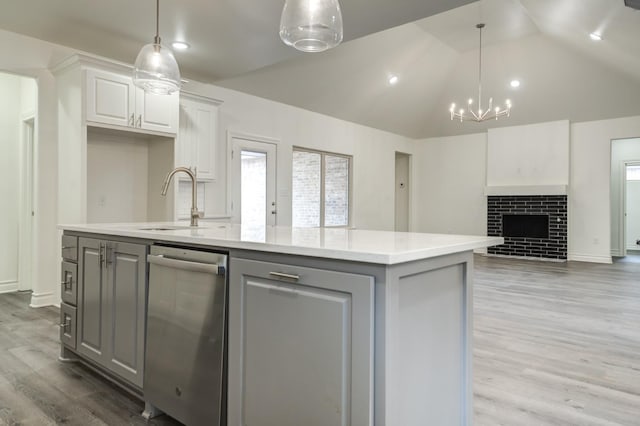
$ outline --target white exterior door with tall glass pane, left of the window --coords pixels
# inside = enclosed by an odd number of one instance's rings
[[[275,225],[276,144],[234,136],[231,138],[231,200],[234,222],[248,228]]]

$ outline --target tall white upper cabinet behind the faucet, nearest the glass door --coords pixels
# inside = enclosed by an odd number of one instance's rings
[[[189,167],[200,180],[216,178],[218,106],[220,101],[182,93],[175,165]]]

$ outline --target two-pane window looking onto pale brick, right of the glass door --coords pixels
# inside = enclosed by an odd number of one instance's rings
[[[350,156],[294,148],[292,181],[293,226],[349,225]]]

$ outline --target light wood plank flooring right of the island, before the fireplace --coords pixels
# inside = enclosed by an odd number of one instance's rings
[[[477,425],[640,425],[640,263],[476,256]]]

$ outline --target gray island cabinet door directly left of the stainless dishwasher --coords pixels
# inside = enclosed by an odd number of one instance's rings
[[[142,387],[147,247],[106,242],[108,364],[114,373]]]

